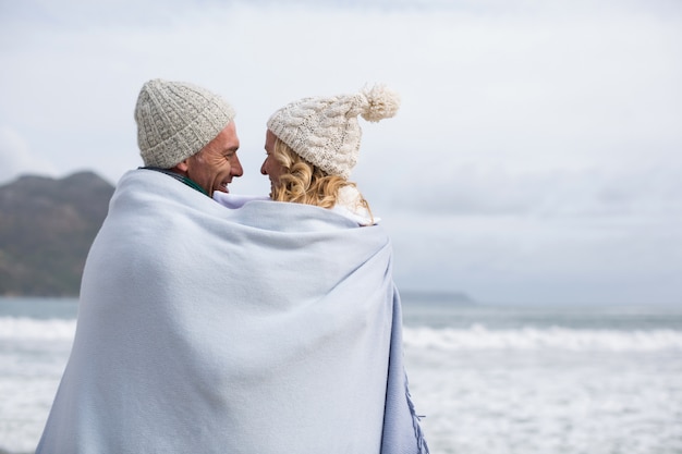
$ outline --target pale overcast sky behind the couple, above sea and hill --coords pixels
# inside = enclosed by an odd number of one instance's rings
[[[93,3],[93,4],[90,4]],[[682,2],[0,0],[0,185],[142,164],[150,78],[236,110],[261,194],[268,116],[375,83],[352,174],[404,291],[489,304],[682,304]]]

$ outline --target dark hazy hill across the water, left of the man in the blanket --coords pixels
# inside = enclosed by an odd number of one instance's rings
[[[93,172],[0,186],[0,295],[76,296],[112,194]]]

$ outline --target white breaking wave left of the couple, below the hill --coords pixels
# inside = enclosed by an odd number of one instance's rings
[[[73,341],[76,320],[0,317],[2,341]]]

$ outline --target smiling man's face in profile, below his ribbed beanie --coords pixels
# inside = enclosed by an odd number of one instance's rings
[[[236,157],[239,147],[236,127],[234,121],[231,121],[216,138],[185,161],[186,175],[202,186],[209,197],[216,191],[229,193],[228,184],[232,182],[232,177],[244,174],[242,163]]]

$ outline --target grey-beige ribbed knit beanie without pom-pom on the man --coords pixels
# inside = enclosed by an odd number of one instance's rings
[[[232,119],[232,106],[205,88],[148,81],[135,106],[139,155],[145,165],[170,169],[196,155]]]

